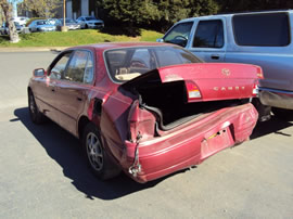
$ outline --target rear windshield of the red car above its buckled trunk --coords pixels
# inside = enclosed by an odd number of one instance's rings
[[[105,61],[111,78],[117,82],[131,80],[164,66],[202,62],[179,47],[138,47],[110,50],[105,52]]]

